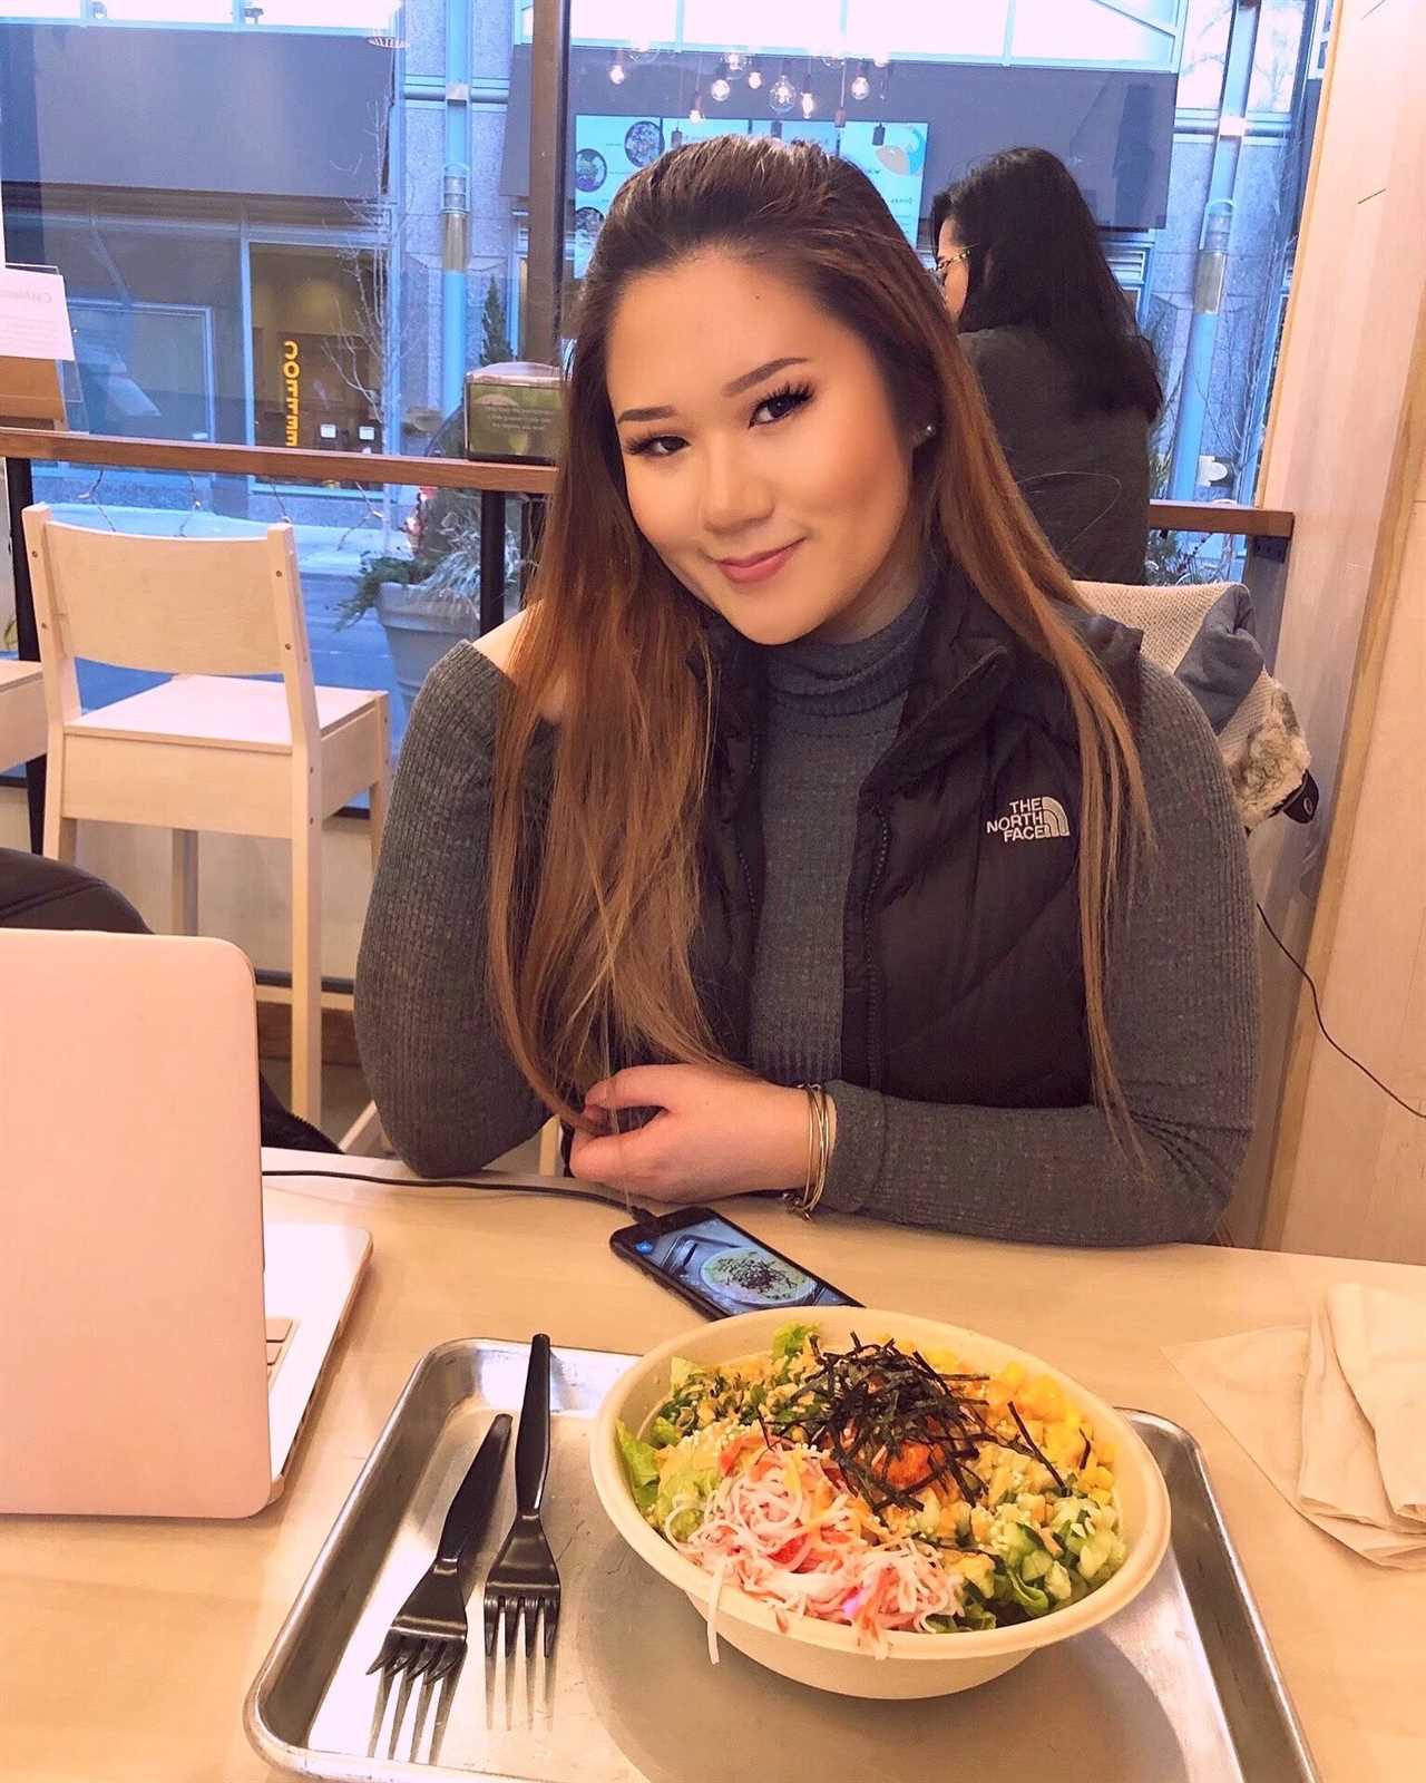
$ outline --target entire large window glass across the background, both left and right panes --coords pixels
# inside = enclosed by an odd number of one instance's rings
[[[873,173],[922,251],[941,185],[1041,143],[1073,166],[1159,348],[1164,483],[1176,465],[1178,492],[1251,499],[1328,16],[1326,0],[574,0],[567,282],[619,182],[676,134],[811,134]],[[547,123],[529,111],[529,5],[467,0],[451,21],[446,0],[0,0],[5,250],[66,276],[75,424],[460,449],[463,373],[519,353],[529,136]],[[1225,257],[1212,316],[1205,244]],[[37,480],[93,524],[291,519],[319,674],[397,692],[397,727],[451,637],[410,653],[403,579],[417,606],[469,619],[474,503],[335,480]]]

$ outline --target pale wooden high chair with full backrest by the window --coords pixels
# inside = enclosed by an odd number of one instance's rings
[[[198,925],[198,833],[292,845],[292,1107],[321,1120],[321,824],[371,795],[371,858],[390,781],[387,695],[314,686],[291,526],[150,538],[25,510],[48,710],[45,852],[75,826],[173,831],[173,929]],[[75,658],[173,679],[84,711]],[[234,679],[278,674],[280,681]]]

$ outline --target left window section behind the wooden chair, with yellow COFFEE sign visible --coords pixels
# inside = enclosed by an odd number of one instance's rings
[[[5,253],[64,273],[73,426],[460,451],[463,374],[513,358],[519,326],[503,5],[472,4],[455,39],[442,0],[0,7]],[[478,503],[339,480],[34,474],[82,524],[289,519],[319,679],[387,688],[397,735],[426,665],[476,626]],[[89,701],[134,685],[82,678]]]

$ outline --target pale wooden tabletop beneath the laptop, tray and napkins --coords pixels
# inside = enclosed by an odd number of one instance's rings
[[[241,1524],[0,1524],[0,1774],[12,1783],[275,1776],[244,1740],[242,1696],[415,1360],[449,1337],[535,1328],[640,1352],[690,1321],[610,1255],[619,1209],[317,1179],[267,1196],[269,1216],[364,1225],[376,1246],[287,1498]],[[1426,1774],[1426,1574],[1373,1567],[1298,1517],[1160,1353],[1303,1323],[1332,1282],[1426,1293],[1426,1269],[1214,1246],[1041,1250],[838,1218],[793,1225],[768,1202],[731,1212],[868,1305],[1021,1343],[1107,1398],[1192,1430],[1323,1776]]]

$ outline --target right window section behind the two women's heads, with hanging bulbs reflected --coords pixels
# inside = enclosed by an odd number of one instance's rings
[[[1159,490],[1251,501],[1324,18],[1323,0],[574,0],[572,276],[640,153],[679,137],[807,134],[877,178],[895,150],[886,196],[927,255],[939,187],[1050,148],[1160,358]]]

